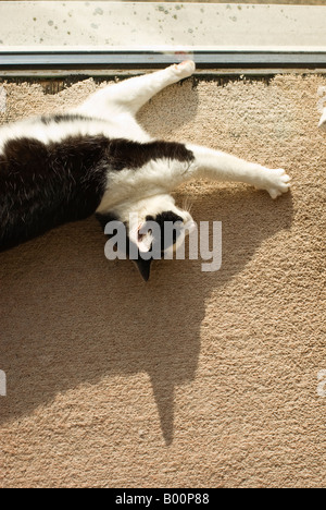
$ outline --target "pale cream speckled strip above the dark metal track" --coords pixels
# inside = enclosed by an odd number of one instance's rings
[[[2,49],[326,46],[325,7],[241,3],[2,1],[0,45]]]

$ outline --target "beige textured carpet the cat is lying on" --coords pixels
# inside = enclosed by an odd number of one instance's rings
[[[180,190],[223,221],[220,271],[159,262],[145,284],[104,258],[95,219],[0,255],[1,487],[325,487],[325,85],[188,80],[140,113],[156,136],[292,175],[276,202]],[[96,88],[3,86],[1,123]]]

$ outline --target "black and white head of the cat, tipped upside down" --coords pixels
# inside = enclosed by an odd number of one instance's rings
[[[196,228],[190,212],[177,207],[171,195],[123,204],[111,215],[98,215],[98,218],[102,226],[110,219],[124,223],[127,256],[135,262],[145,281],[150,277],[152,262],[175,251]]]

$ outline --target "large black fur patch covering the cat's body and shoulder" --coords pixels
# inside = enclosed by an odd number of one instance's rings
[[[193,155],[178,143],[102,135],[47,145],[28,137],[8,141],[0,154],[0,251],[89,217],[101,203],[108,172],[137,170],[160,158],[190,163]]]

